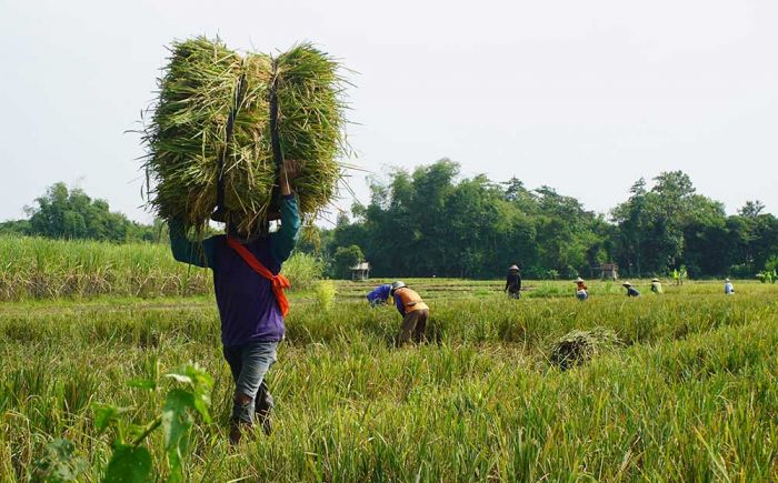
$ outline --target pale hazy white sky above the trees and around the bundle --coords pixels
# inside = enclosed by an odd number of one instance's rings
[[[164,46],[203,33],[263,51],[310,40],[358,71],[349,137],[366,170],[448,157],[604,212],[680,169],[728,212],[760,199],[778,213],[776,26],[775,0],[0,0],[0,220],[66,181],[149,221],[124,131]]]

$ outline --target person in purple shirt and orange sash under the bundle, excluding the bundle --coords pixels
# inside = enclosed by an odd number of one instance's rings
[[[265,221],[253,233],[227,227],[227,235],[190,242],[180,220],[170,220],[170,248],[179,262],[213,270],[216,302],[221,319],[222,352],[236,384],[230,421],[230,442],[240,441],[243,429],[256,422],[271,431],[273,400],[265,376],[276,362],[278,343],[283,339],[283,318],[289,302],[283,289],[289,281],[280,274],[289,259],[300,215],[290,182],[297,163],[285,161],[279,175],[282,197],[281,228],[269,233]]]

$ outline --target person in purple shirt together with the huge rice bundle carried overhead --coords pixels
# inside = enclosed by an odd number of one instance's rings
[[[213,271],[237,443],[256,422],[271,430],[265,376],[289,311],[281,264],[300,218],[312,221],[342,177],[345,81],[310,44],[271,57],[196,38],[170,51],[143,135],[147,195],[169,222],[176,260]],[[202,240],[210,220],[227,234]]]

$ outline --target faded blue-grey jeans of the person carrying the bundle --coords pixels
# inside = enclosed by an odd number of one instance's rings
[[[255,412],[267,415],[272,409],[272,396],[265,376],[276,362],[277,348],[278,342],[249,342],[222,348],[236,385],[233,421],[253,424]]]

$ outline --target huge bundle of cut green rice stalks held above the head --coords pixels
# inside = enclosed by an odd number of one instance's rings
[[[333,59],[307,43],[276,58],[241,56],[202,37],[174,42],[170,51],[143,134],[147,195],[160,217],[202,232],[221,177],[225,221],[252,232],[277,202],[279,159],[300,161],[296,189],[303,219],[332,201],[346,152],[346,81]]]

